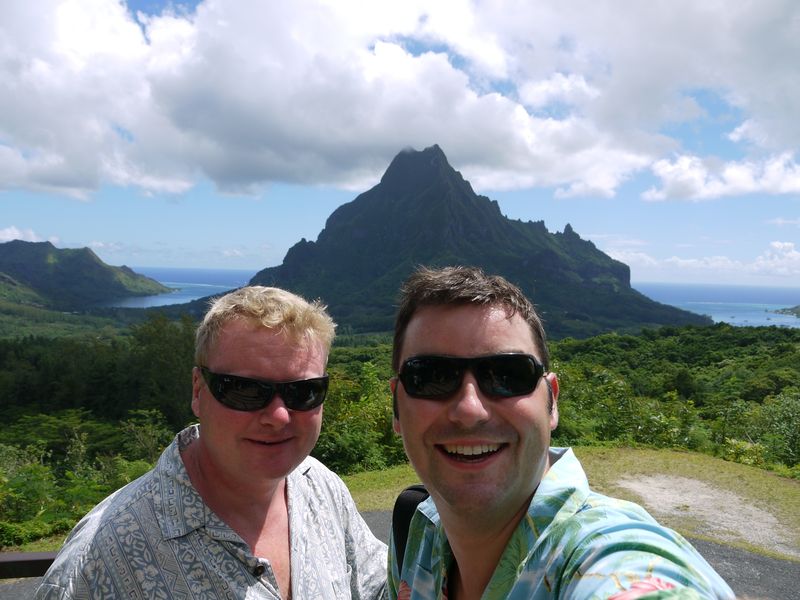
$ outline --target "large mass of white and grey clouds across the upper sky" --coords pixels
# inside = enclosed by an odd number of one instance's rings
[[[800,5],[609,8],[206,0],[138,22],[119,0],[3,2],[0,189],[352,188],[438,143],[487,191],[610,197],[651,165],[649,199],[797,191]],[[663,133],[707,117],[696,90],[736,109],[746,159]]]

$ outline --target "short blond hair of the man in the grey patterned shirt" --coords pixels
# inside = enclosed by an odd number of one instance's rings
[[[325,309],[319,300],[308,302],[280,288],[251,285],[229,292],[211,304],[197,328],[195,364],[206,365],[222,327],[235,319],[283,332],[299,344],[322,342],[328,353],[336,324]]]

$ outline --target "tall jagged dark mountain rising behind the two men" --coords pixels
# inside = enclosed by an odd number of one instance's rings
[[[343,329],[388,331],[400,283],[418,265],[477,265],[519,285],[554,337],[653,324],[705,323],[630,287],[630,270],[570,225],[513,221],[479,196],[438,145],[403,150],[380,183],[328,218],[317,241],[301,240],[283,264],[251,283],[322,298]]]

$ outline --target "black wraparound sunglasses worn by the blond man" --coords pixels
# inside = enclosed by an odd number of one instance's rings
[[[328,376],[298,381],[261,381],[238,375],[213,373],[200,367],[203,379],[211,395],[220,404],[233,410],[261,410],[280,394],[286,408],[291,410],[312,410],[325,400],[328,392]]]

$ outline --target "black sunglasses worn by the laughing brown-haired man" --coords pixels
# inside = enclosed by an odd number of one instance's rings
[[[487,396],[526,396],[536,389],[544,365],[530,354],[508,353],[462,358],[424,355],[406,360],[398,375],[409,396],[444,400],[455,394],[469,369]]]

